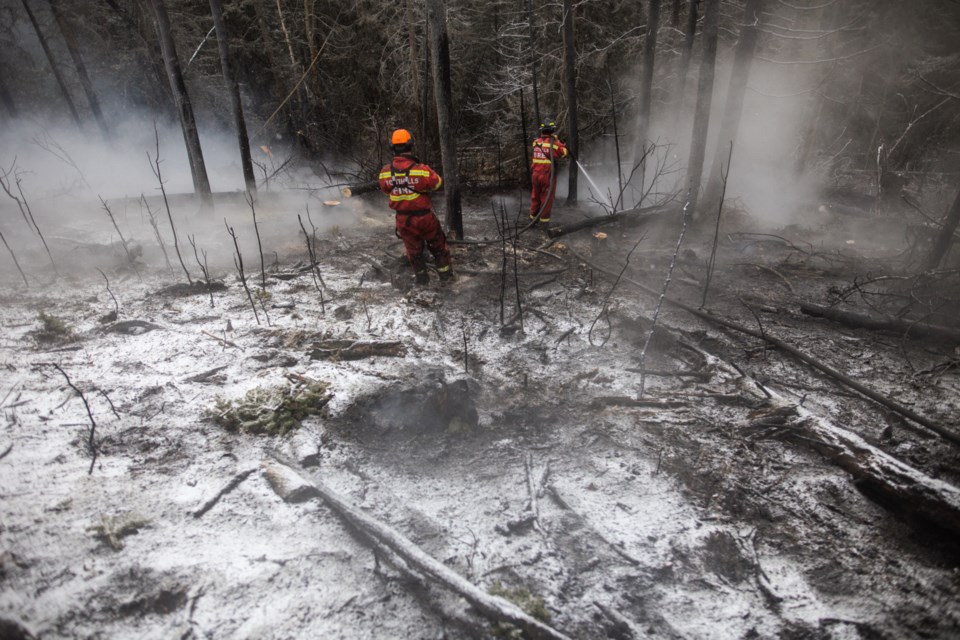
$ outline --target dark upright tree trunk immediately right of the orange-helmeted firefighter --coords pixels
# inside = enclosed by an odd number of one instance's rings
[[[433,93],[437,102],[437,128],[443,160],[443,185],[447,196],[447,228],[463,238],[463,211],[457,177],[457,149],[453,140],[453,89],[450,85],[450,40],[443,0],[427,0],[430,57],[433,61]]]

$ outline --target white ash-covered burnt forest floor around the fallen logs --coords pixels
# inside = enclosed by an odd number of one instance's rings
[[[496,238],[500,202],[467,207],[470,238]],[[636,247],[629,226],[530,230],[516,247],[456,245],[455,283],[411,288],[380,204],[313,210],[312,273],[304,212],[263,198],[265,286],[237,207],[226,222],[249,296],[220,213],[177,212],[192,287],[169,224],[167,266],[135,205],[117,217],[136,269],[105,218],[41,221],[57,273],[25,226],[3,227],[29,286],[4,263],[0,635],[520,637],[374,552],[323,501],[285,502],[263,472],[278,460],[570,638],[960,634],[949,531],[769,416],[809,411],[948,496],[954,445],[670,305],[648,340],[658,300],[629,281],[660,290],[676,262],[668,294],[700,306],[712,229],[676,256],[675,217]],[[956,430],[955,344],[797,309],[849,298],[902,249],[854,222],[818,220],[814,237],[731,216],[706,307]],[[309,385],[323,399],[286,435],[214,419],[251,390]]]

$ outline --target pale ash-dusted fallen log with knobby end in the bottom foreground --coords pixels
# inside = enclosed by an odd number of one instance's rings
[[[400,532],[360,511],[322,483],[308,481],[293,467],[278,460],[264,460],[262,466],[268,482],[285,501],[303,502],[314,497],[322,499],[337,515],[399,556],[409,568],[461,596],[493,622],[512,624],[536,640],[569,640],[568,636],[527,615],[512,602],[483,591],[425,553]]]

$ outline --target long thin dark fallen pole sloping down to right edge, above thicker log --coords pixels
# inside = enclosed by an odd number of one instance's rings
[[[576,256],[576,258],[580,260],[580,262],[583,262],[584,264],[592,268],[594,271],[598,271],[600,273],[606,273],[607,275],[615,278],[620,278],[620,280],[622,280],[623,282],[629,282],[640,291],[647,293],[649,295],[657,296],[657,297],[660,296],[659,291],[655,291],[650,287],[644,285],[643,283],[637,282],[636,280],[632,278],[628,278],[625,275],[618,274],[610,269],[605,269],[600,265],[593,263],[590,260],[587,260],[580,254],[578,254],[576,251],[574,251],[572,248],[568,247],[568,249],[570,249],[570,253]],[[933,431],[934,433],[939,435],[944,440],[947,440],[948,442],[951,442],[954,445],[960,446],[960,434],[957,434],[951,431],[950,429],[942,427],[936,422],[933,422],[932,420],[925,418],[924,416],[920,415],[916,411],[913,411],[912,409],[908,409],[907,407],[901,405],[898,402],[894,402],[893,400],[887,398],[886,396],[874,391],[870,387],[857,382],[856,380],[852,379],[850,376],[847,376],[837,371],[833,367],[827,364],[824,364],[823,362],[820,362],[813,356],[808,355],[806,352],[801,351],[800,349],[794,347],[793,345],[788,344],[783,340],[780,340],[778,338],[771,336],[766,331],[758,331],[755,329],[750,329],[749,327],[745,327],[742,324],[739,324],[732,320],[728,320],[726,318],[721,318],[720,316],[715,316],[712,313],[709,313],[708,311],[705,311],[703,309],[697,309],[696,307],[692,307],[688,304],[680,302],[679,300],[676,300],[669,296],[664,296],[663,301],[678,309],[683,309],[687,313],[693,314],[698,318],[706,320],[707,322],[719,325],[721,327],[726,327],[727,329],[732,329],[733,331],[738,331],[748,336],[752,336],[754,338],[763,340],[764,342],[777,347],[781,351],[785,351],[786,353],[789,353],[790,355],[795,357],[797,360],[800,360],[801,362],[805,362],[806,364],[810,365],[817,371],[820,371],[821,373],[826,374],[827,376],[833,378],[837,382],[840,382],[841,384],[844,384],[847,387],[850,387],[851,389],[856,390],[861,395],[866,396],[867,398],[870,398],[874,402],[882,404],[883,406],[887,407],[891,411],[894,411],[895,413],[898,413],[901,416],[905,418],[909,418],[911,421],[923,427],[926,427],[930,431]]]

